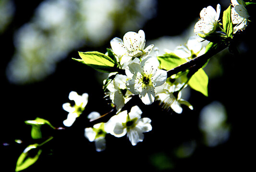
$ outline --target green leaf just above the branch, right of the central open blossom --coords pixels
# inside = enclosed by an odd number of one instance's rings
[[[171,70],[187,62],[184,58],[180,58],[174,53],[158,56],[158,61],[160,62],[160,67],[165,70]]]

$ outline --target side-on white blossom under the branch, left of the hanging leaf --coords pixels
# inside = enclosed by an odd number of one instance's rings
[[[182,92],[179,91],[183,87],[183,84],[179,83],[177,85],[175,84],[169,84],[165,83],[162,86],[159,86],[157,88],[156,97],[157,100],[160,101],[159,104],[163,106],[165,109],[172,109],[174,112],[181,114],[183,109],[181,105],[186,105],[191,110],[193,110],[193,106],[187,102],[186,100],[182,99]],[[175,92],[178,94],[175,94]]]

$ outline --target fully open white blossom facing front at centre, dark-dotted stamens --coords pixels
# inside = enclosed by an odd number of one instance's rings
[[[142,62],[128,64],[125,74],[131,78],[126,87],[134,95],[139,95],[142,102],[149,105],[155,100],[155,87],[165,83],[167,72],[158,69],[157,58],[148,56]]]

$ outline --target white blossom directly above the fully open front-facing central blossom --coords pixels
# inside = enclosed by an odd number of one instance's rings
[[[139,30],[138,33],[125,33],[123,41],[122,39],[115,37],[110,41],[110,45],[113,53],[117,56],[117,61],[120,62],[123,69],[125,69],[127,63],[133,58],[141,58],[148,55],[154,47],[154,45],[151,44],[145,48],[146,40],[145,32],[143,30]]]

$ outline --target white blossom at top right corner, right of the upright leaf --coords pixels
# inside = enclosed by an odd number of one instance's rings
[[[243,31],[248,25],[248,18],[250,17],[247,10],[245,9],[245,2],[243,0],[231,0],[231,19],[235,25],[233,33],[241,30]]]

